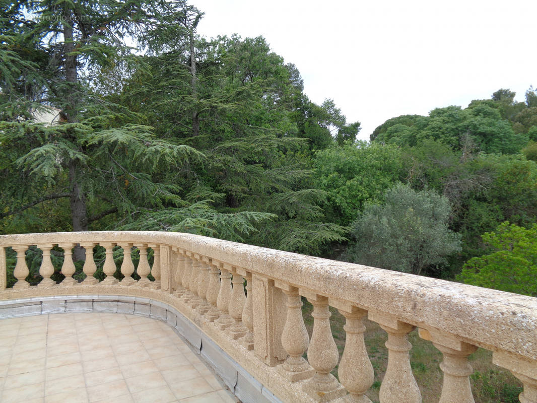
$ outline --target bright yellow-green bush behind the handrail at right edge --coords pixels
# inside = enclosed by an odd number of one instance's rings
[[[496,290],[537,296],[537,224],[523,228],[503,222],[483,234],[491,253],[471,258],[458,280]]]

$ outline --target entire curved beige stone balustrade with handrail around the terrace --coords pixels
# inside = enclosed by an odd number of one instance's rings
[[[85,249],[82,280],[72,277],[76,246]],[[104,261],[97,264],[96,246],[105,250]],[[29,247],[42,251],[42,280],[36,286],[26,280]],[[16,262],[10,259],[8,264],[8,248]],[[51,260],[54,248],[64,251],[65,279],[59,283]],[[119,268],[114,255],[118,261],[122,257]],[[95,277],[98,267],[104,276],[100,282]],[[17,279],[9,288],[8,272]],[[311,338],[304,326],[303,297],[313,305]],[[136,304],[153,301],[150,304],[164,309],[155,315],[205,354],[244,402],[370,402],[366,392],[373,384],[373,367],[364,343],[367,317],[388,335],[381,403],[422,401],[409,355],[408,334],[415,328],[444,356],[440,403],[474,401],[468,355],[477,347],[491,350],[493,362],[521,380],[522,403],[537,403],[537,299],[531,297],[191,234],[0,236],[0,316],[10,301],[17,306],[41,301],[39,309],[45,313],[47,298],[94,305],[131,298],[134,313],[140,314],[151,314],[153,308],[137,312]],[[341,358],[330,330],[330,306],[346,320]],[[40,313],[32,309],[20,312]],[[331,371],[338,363],[336,378]]]

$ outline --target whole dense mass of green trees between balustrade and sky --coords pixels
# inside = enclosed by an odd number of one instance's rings
[[[201,18],[185,0],[0,9],[1,232],[183,231],[454,279],[482,234],[533,228],[533,87],[357,141],[263,37],[208,40]]]

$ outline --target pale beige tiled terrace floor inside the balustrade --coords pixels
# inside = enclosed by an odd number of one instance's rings
[[[0,320],[2,403],[231,403],[165,323],[116,313]]]

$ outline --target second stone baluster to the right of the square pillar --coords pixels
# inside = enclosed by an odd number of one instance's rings
[[[330,328],[328,298],[316,293],[302,292],[313,305],[313,333],[308,347],[308,362],[315,369],[304,390],[316,401],[330,401],[343,396],[345,388],[330,371],[339,361],[339,352]]]

